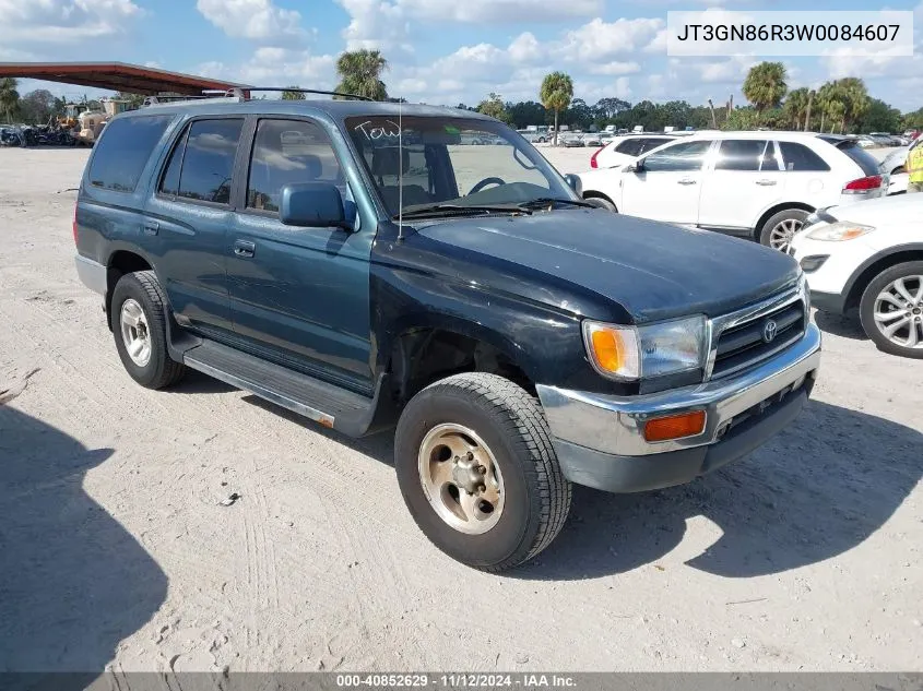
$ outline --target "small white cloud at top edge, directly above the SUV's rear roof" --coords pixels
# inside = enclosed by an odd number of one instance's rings
[[[198,0],[196,9],[234,38],[277,44],[305,35],[300,13],[277,8],[272,0]]]

